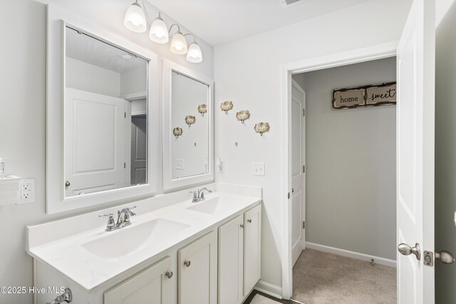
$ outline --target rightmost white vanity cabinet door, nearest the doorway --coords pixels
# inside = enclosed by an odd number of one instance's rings
[[[244,214],[244,296],[260,278],[261,268],[261,205]]]

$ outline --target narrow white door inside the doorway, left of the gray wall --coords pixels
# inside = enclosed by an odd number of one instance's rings
[[[298,261],[305,248],[304,233],[304,127],[306,92],[293,80],[291,86],[291,258]]]

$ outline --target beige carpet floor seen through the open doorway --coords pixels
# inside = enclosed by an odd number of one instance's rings
[[[306,249],[293,268],[293,298],[306,304],[396,303],[396,269]]]

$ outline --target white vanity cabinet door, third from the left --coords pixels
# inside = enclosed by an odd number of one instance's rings
[[[219,227],[219,304],[242,303],[244,216]]]

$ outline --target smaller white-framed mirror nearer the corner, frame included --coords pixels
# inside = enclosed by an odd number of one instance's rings
[[[213,82],[163,61],[163,188],[212,182]]]

